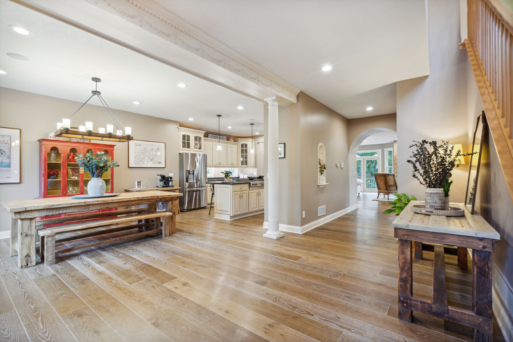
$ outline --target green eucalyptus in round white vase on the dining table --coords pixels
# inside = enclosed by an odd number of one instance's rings
[[[105,152],[78,154],[76,162],[81,167],[81,171],[86,169],[91,174],[91,180],[87,184],[87,192],[91,197],[101,197],[105,194],[105,180],[102,176],[109,169],[119,167],[114,160],[109,162],[109,156]]]

